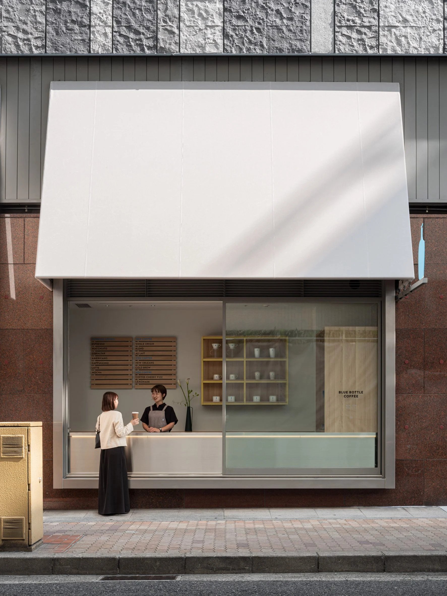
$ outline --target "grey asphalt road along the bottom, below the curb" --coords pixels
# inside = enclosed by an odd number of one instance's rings
[[[125,585],[123,585],[125,583]],[[445,596],[446,574],[181,576],[170,581],[102,581],[100,577],[1,578],[1,596]]]

